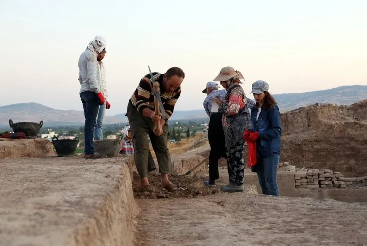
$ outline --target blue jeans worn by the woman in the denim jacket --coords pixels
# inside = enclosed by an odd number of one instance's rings
[[[272,153],[271,156],[264,159],[257,158],[257,177],[264,195],[279,196],[277,184],[278,162],[278,153]]]

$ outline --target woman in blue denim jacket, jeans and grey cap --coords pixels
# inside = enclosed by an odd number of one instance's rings
[[[252,84],[256,106],[251,111],[252,133],[256,139],[257,177],[262,194],[279,196],[277,168],[281,154],[281,118],[274,97],[268,92],[269,85],[259,80]]]

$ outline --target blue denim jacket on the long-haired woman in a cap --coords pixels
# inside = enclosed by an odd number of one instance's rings
[[[261,112],[256,121],[257,107],[251,110],[252,131],[259,132],[257,139],[257,157],[267,158],[273,153],[281,154],[281,117],[278,106],[270,110],[261,108]]]

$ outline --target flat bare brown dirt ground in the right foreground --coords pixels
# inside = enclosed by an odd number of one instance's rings
[[[234,193],[137,199],[137,245],[366,245],[367,204]]]

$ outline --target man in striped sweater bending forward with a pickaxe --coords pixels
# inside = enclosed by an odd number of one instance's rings
[[[184,81],[185,73],[178,67],[172,67],[165,74],[152,73],[153,81],[159,83],[161,107],[164,111],[161,115],[155,114],[153,84],[151,75],[145,75],[131,96],[127,117],[129,119],[131,133],[134,144],[134,160],[138,170],[141,183],[141,192],[152,192],[148,176],[149,140],[152,143],[156,154],[159,173],[162,174],[162,187],[168,191],[176,190],[176,187],[169,181],[168,174],[172,173],[173,166],[167,147],[168,124],[167,120],[173,114],[174,105],[181,95],[181,84]],[[155,125],[158,129],[154,129]]]

